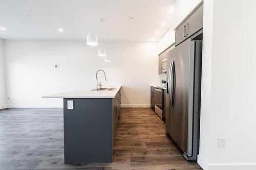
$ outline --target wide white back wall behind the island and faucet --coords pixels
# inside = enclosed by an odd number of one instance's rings
[[[9,107],[62,107],[61,99],[41,96],[95,88],[98,69],[106,72],[103,86],[123,86],[123,107],[150,107],[150,85],[160,84],[157,43],[111,41],[109,47],[105,63],[86,41],[6,40]]]

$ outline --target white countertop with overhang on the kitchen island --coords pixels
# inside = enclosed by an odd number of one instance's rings
[[[97,90],[80,89],[74,91],[67,91],[57,94],[45,95],[42,98],[115,98],[121,86],[116,86],[115,90]]]

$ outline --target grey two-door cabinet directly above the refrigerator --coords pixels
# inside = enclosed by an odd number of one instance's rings
[[[203,5],[201,5],[193,14],[189,15],[181,25],[175,30],[175,45],[203,28]]]

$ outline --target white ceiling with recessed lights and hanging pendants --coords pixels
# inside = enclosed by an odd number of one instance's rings
[[[93,2],[93,3],[92,3]],[[175,0],[0,0],[4,39],[86,39],[93,30],[111,40],[158,41],[173,24]],[[27,15],[32,15],[29,17]],[[129,17],[134,19],[130,19]],[[165,22],[164,27],[161,22]],[[62,28],[60,33],[58,28]],[[159,31],[159,35],[156,35]],[[155,40],[152,40],[155,38]]]

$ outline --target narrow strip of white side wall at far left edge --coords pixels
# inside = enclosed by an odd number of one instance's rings
[[[6,107],[4,40],[0,39],[0,109]]]

